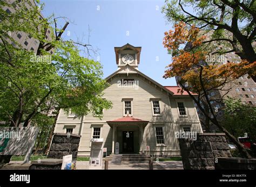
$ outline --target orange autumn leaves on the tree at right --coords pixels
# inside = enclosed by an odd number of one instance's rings
[[[255,69],[255,63],[246,60],[207,63],[211,51],[205,51],[203,46],[214,44],[204,43],[206,37],[199,32],[199,28],[188,27],[183,22],[176,24],[174,31],[165,32],[163,44],[172,54],[172,63],[166,67],[164,78],[179,76],[180,83],[188,83],[189,90],[198,93],[202,91],[201,87],[211,90]]]

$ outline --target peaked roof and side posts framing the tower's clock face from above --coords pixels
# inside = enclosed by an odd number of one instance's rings
[[[116,53],[116,63],[120,65],[120,61],[122,61],[121,57],[129,54],[134,55],[136,66],[138,66],[140,60],[140,51],[142,51],[142,47],[134,47],[128,43],[122,47],[114,47],[114,52]]]

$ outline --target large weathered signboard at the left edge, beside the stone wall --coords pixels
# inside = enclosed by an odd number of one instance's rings
[[[23,163],[28,163],[38,131],[38,127],[0,127],[0,155],[25,155]]]

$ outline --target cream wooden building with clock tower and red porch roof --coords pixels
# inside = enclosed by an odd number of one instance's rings
[[[179,156],[174,132],[202,132],[196,108],[188,93],[179,87],[160,85],[138,70],[141,47],[126,44],[114,47],[118,69],[106,77],[110,86],[104,98],[112,109],[104,117],[88,114],[83,118],[67,116],[60,110],[55,133],[80,134],[78,156],[89,156],[92,138],[103,138],[107,154],[114,154],[119,142],[120,153],[145,153]],[[148,154],[148,153],[147,153]]]

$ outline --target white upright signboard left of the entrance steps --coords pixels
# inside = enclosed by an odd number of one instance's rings
[[[89,169],[102,169],[103,138],[91,139]]]

